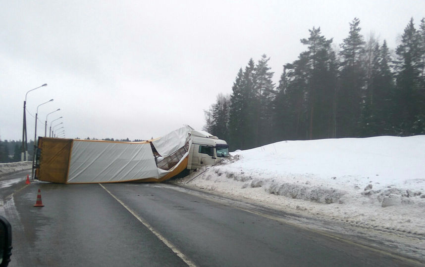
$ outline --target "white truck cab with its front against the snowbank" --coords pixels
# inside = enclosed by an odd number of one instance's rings
[[[187,169],[189,170],[212,165],[229,155],[229,146],[226,141],[220,140],[217,136],[210,133],[192,130],[190,139],[192,145],[189,149],[187,163]]]

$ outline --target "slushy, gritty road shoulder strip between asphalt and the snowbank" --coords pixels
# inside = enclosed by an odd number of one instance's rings
[[[336,218],[326,218],[320,214],[314,216],[303,212],[303,210],[287,209],[286,206],[273,205],[267,201],[250,198],[247,195],[235,196],[228,192],[198,187],[187,182],[187,178],[182,178],[170,180],[168,184],[180,188],[177,190],[185,190],[187,193],[202,196],[221,204],[236,206],[269,219],[296,225],[339,240],[343,239],[385,254],[397,255],[400,258],[411,261],[412,265],[425,264],[425,236],[422,234],[398,231],[397,229],[369,227],[365,224],[347,223],[336,220]],[[283,196],[274,195],[271,197],[284,198]]]

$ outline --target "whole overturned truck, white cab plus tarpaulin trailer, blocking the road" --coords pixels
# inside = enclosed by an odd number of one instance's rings
[[[224,140],[189,126],[157,139],[39,138],[36,177],[56,183],[160,182],[228,156]]]

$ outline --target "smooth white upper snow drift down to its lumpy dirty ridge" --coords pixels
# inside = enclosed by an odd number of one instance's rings
[[[226,177],[270,193],[319,203],[398,195],[394,205],[425,204],[425,136],[284,141],[234,152]],[[376,203],[375,203],[376,204]]]

